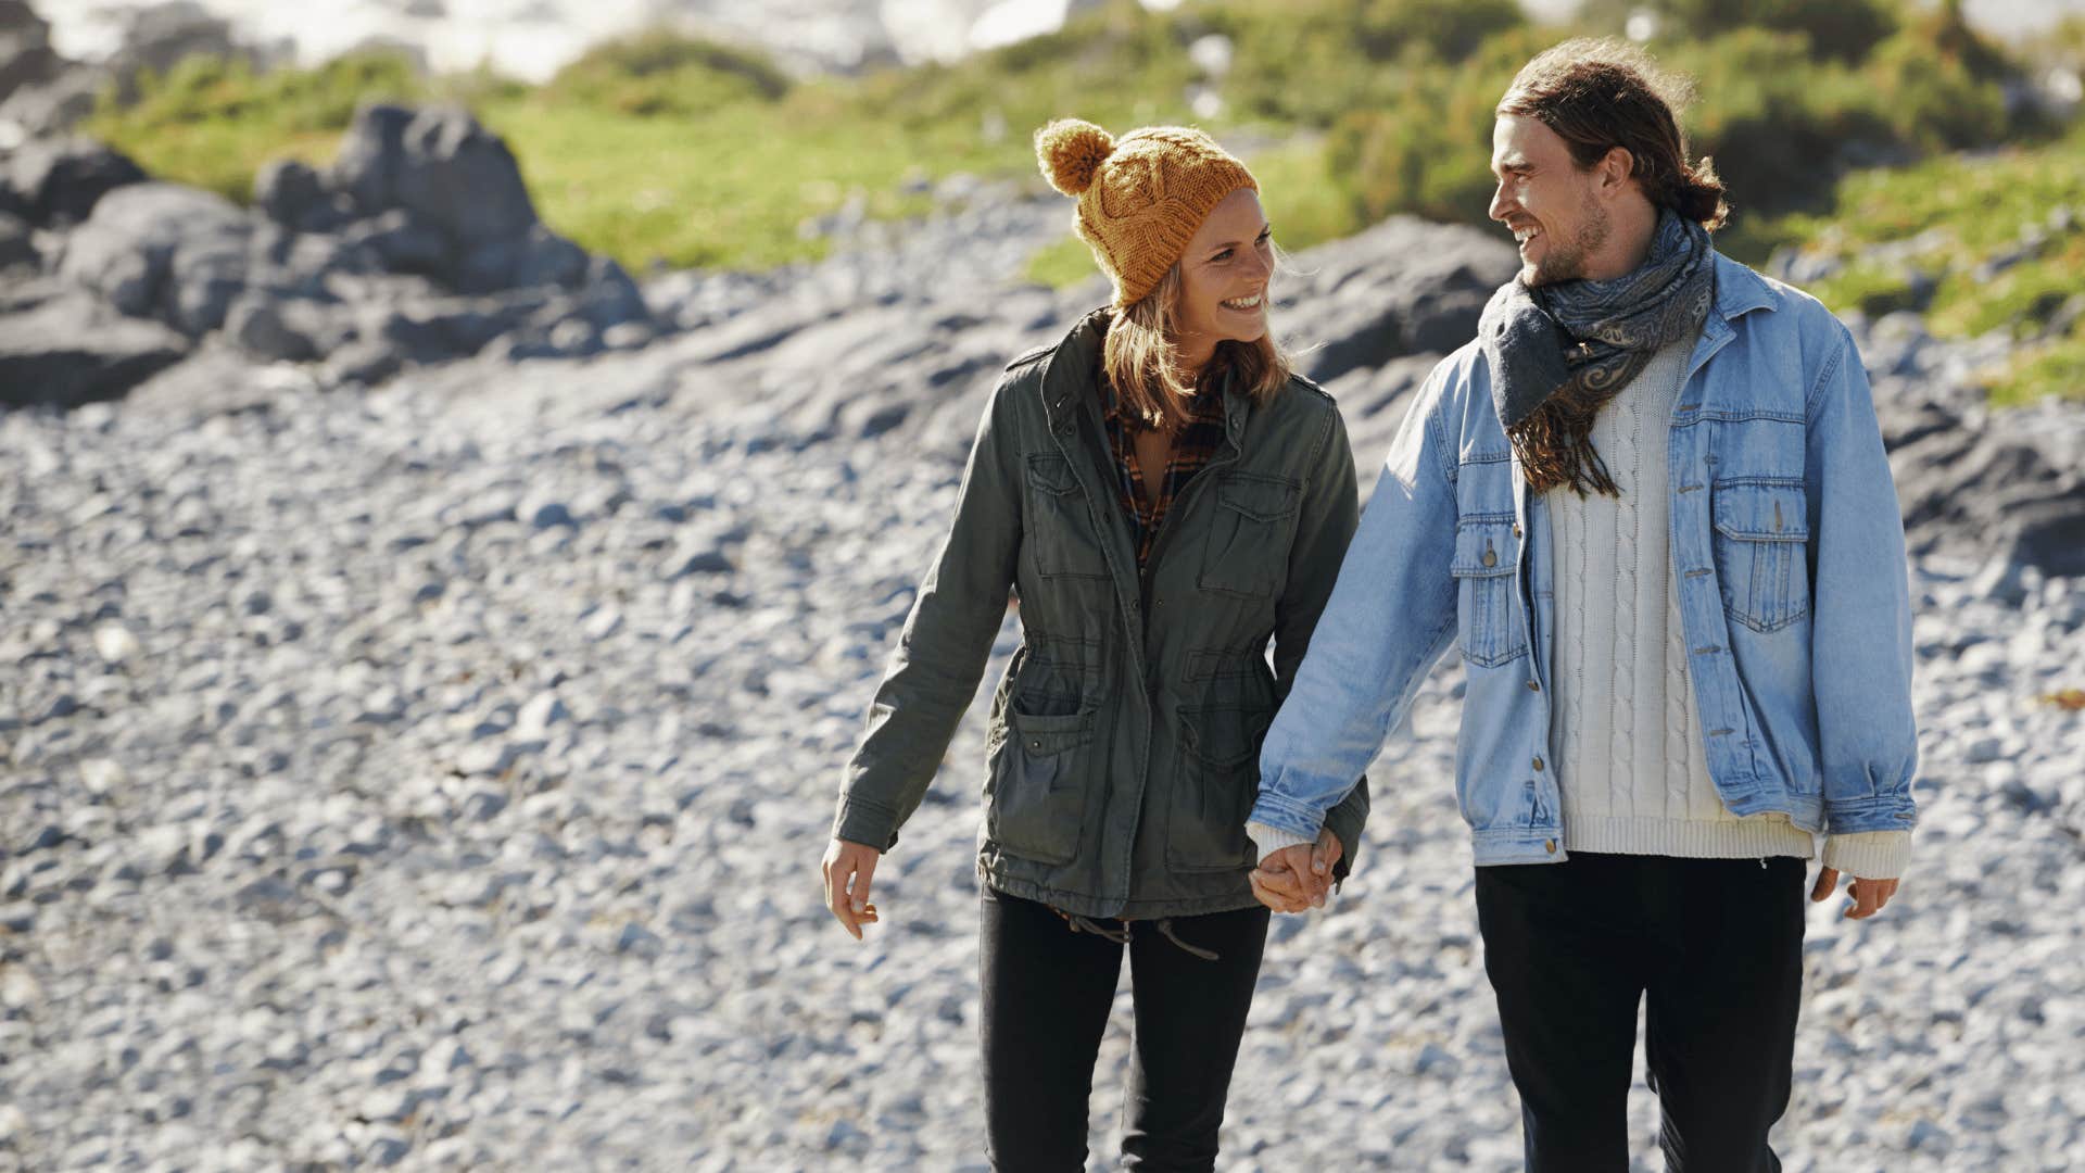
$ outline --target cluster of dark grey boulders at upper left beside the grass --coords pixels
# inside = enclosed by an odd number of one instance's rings
[[[371,104],[332,167],[263,169],[252,211],[150,182],[88,140],[33,142],[0,179],[0,217],[15,213],[0,219],[0,269],[44,265],[188,342],[221,332],[254,359],[321,363],[336,382],[382,382],[494,342],[511,359],[561,357],[659,332],[621,265],[550,232],[513,152],[461,109]],[[48,290],[21,298],[42,301]],[[136,369],[108,363],[96,394]]]

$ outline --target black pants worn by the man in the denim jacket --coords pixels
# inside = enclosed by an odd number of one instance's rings
[[[1779,1171],[1804,981],[1804,862],[1572,854],[1476,868],[1528,1169],[1626,1171],[1637,1000],[1666,1169]]]

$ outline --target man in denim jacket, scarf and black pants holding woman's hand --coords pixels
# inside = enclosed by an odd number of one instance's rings
[[[1455,789],[1528,1169],[1626,1169],[1637,1004],[1668,1169],[1779,1169],[1812,900],[1891,897],[1916,731],[1904,526],[1868,382],[1814,298],[1710,248],[1683,90],[1568,42],[1497,106],[1522,269],[1405,417],[1268,733],[1255,891],[1428,668],[1468,666]]]

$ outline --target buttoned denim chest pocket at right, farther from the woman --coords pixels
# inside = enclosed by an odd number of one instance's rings
[[[1810,614],[1810,520],[1801,482],[1716,484],[1716,582],[1722,609],[1751,630]]]

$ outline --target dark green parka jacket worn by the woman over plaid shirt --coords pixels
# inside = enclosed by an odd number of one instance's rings
[[[1022,643],[986,728],[984,883],[1080,916],[1247,908],[1259,741],[1353,536],[1353,453],[1332,399],[1301,378],[1261,405],[1226,390],[1226,438],[1180,488],[1138,576],[1101,422],[1105,328],[1105,311],[1084,317],[992,390],[834,835],[897,843],[1013,589]],[[1366,816],[1364,783],[1326,820],[1341,877]]]

